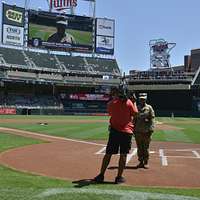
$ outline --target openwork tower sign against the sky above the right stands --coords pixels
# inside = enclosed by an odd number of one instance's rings
[[[168,43],[164,39],[150,40],[150,68],[170,68],[170,51],[175,46],[176,43]]]

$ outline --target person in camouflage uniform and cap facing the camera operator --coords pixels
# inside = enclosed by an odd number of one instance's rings
[[[138,114],[135,120],[135,140],[137,144],[138,168],[148,168],[149,145],[154,131],[155,113],[151,105],[146,103],[147,94],[139,94]]]

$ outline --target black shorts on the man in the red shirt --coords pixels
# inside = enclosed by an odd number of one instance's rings
[[[132,134],[119,132],[113,128],[110,129],[106,154],[128,154],[131,149]]]

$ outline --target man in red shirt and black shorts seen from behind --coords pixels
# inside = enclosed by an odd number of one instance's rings
[[[101,183],[104,181],[105,171],[110,163],[113,154],[118,154],[120,149],[118,174],[115,178],[115,183],[124,183],[125,178],[122,176],[126,157],[131,149],[131,141],[133,135],[133,117],[137,114],[137,106],[127,98],[126,91],[119,87],[117,97],[111,100],[107,107],[110,115],[109,139],[106,147],[106,154],[103,158],[100,174],[94,178],[95,182]]]

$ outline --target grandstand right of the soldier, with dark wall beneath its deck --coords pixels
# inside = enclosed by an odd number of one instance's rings
[[[199,50],[191,50],[182,66],[131,70],[126,80],[129,90],[148,93],[157,115],[200,116],[199,66]]]

